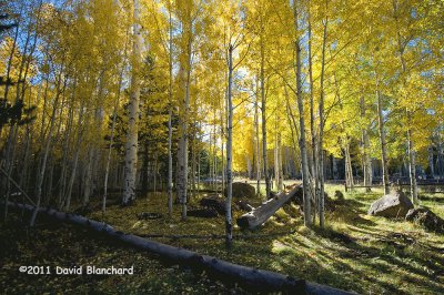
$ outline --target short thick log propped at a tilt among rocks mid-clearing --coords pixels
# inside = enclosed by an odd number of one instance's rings
[[[266,222],[280,207],[282,207],[289,200],[296,194],[302,193],[302,186],[296,186],[289,193],[281,193],[273,199],[262,203],[255,210],[243,214],[236,220],[236,223],[242,228],[254,230],[264,222]]]

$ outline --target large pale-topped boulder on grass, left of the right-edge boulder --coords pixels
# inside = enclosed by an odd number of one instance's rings
[[[412,202],[403,192],[397,191],[373,202],[370,206],[369,215],[397,218],[404,217],[411,208],[413,208]]]

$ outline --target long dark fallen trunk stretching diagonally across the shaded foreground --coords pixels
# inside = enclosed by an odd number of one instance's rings
[[[8,202],[9,206],[24,208],[30,212],[34,210],[34,206],[28,204],[19,204]],[[125,234],[115,231],[112,226],[89,220],[87,217],[58,212],[51,208],[39,208],[39,213],[46,213],[57,220],[88,226],[95,232],[103,233],[112,238],[121,241],[125,244],[134,246],[137,248],[159,255],[161,258],[165,258],[176,264],[186,265],[193,271],[205,272],[212,277],[230,284],[238,282],[249,291],[255,291],[260,293],[273,292],[273,293],[291,293],[291,294],[351,294],[345,291],[319,285],[315,283],[306,282],[304,279],[296,279],[291,276],[285,276],[279,273],[256,269],[246,267],[208,255],[200,255],[195,252],[191,252],[184,248],[173,247],[154,241],[149,241],[143,237]]]

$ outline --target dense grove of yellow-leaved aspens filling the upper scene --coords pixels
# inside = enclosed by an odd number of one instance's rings
[[[297,177],[305,225],[324,226],[325,181],[389,191],[406,177],[417,203],[417,179],[444,177],[443,1],[0,9],[7,201],[10,180],[37,206],[63,211],[168,191],[165,206],[180,205],[184,220],[203,185],[226,191],[231,212],[234,175],[264,182],[264,199]],[[226,214],[228,243],[231,223]]]

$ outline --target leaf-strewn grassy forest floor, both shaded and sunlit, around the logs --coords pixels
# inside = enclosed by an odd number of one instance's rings
[[[327,185],[333,195],[343,186]],[[345,204],[326,213],[326,228],[303,226],[299,208],[281,208],[254,232],[235,226],[230,251],[223,238],[224,216],[189,217],[180,221],[180,207],[168,217],[167,196],[150,194],[129,207],[109,206],[87,215],[103,220],[120,231],[138,235],[199,235],[208,238],[150,237],[152,240],[216,256],[233,263],[270,269],[299,278],[362,294],[443,294],[444,235],[426,232],[418,224],[366,215],[382,192],[345,193]],[[422,205],[444,217],[444,194],[420,193]],[[196,206],[200,196],[191,200]],[[261,200],[250,200],[259,204]],[[95,206],[93,206],[95,207]],[[139,220],[142,212],[161,213],[159,220]],[[242,212],[234,212],[234,218]],[[32,231],[17,226],[18,215],[0,228],[0,289],[6,293],[71,291],[75,293],[242,293],[189,269],[159,262],[155,256],[112,243],[87,230],[39,216]],[[102,218],[103,217],[103,218]],[[286,233],[286,234],[284,234]],[[250,236],[249,236],[250,235]],[[255,235],[255,236],[254,236]],[[130,276],[18,275],[20,265],[134,265]]]

